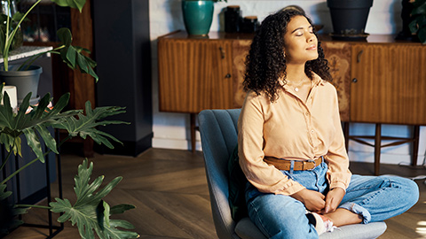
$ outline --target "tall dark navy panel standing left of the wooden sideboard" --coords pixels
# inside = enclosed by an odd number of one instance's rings
[[[151,87],[151,40],[149,1],[93,1],[93,29],[98,106],[126,107],[111,120],[130,125],[105,127],[124,145],[115,143],[105,152],[137,156],[152,146],[153,111]]]

